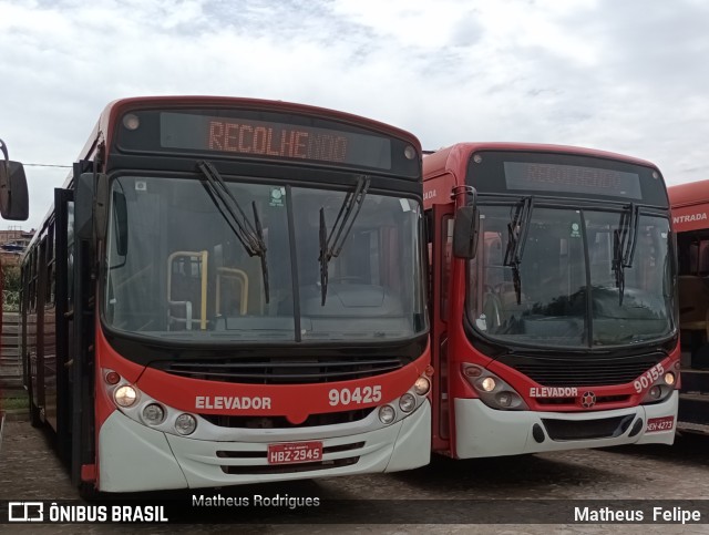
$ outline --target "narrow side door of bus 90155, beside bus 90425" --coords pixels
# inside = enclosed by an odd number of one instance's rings
[[[431,357],[433,375],[433,434],[431,446],[439,453],[450,452],[450,411],[448,383],[448,316],[453,239],[454,204],[434,204],[429,218],[429,254],[431,256]]]

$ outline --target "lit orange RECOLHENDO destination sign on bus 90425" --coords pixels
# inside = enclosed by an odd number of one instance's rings
[[[391,168],[391,141],[376,135],[173,112],[161,113],[160,125],[163,148]]]

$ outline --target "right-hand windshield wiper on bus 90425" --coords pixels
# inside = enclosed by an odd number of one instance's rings
[[[325,306],[325,298],[328,295],[328,265],[330,259],[339,256],[342,250],[354,219],[357,219],[359,210],[364,204],[369,183],[370,178],[368,176],[360,176],[354,191],[347,192],[329,235],[325,223],[325,208],[320,208],[320,256],[318,260],[320,261],[321,306]]]

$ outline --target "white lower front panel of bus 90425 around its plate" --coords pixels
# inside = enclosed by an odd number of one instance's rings
[[[337,425],[340,432],[335,438],[322,436],[322,429],[299,428],[269,429],[259,440],[248,442],[214,441],[167,434],[115,411],[99,435],[99,490],[137,492],[226,486],[397,472],[429,463],[431,405],[428,400],[391,425],[371,430],[371,423],[367,422],[368,430],[363,432],[353,424],[351,434],[343,434],[345,425]],[[235,435],[238,433],[235,430]],[[306,471],[295,471],[296,464],[269,470],[266,459],[269,443],[307,440],[322,442],[321,464]],[[244,473],[239,473],[240,469]]]

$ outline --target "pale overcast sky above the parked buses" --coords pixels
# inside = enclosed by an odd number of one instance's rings
[[[70,165],[114,99],[210,94],[709,178],[708,1],[0,0],[0,138],[25,164]],[[29,229],[68,169],[25,169]]]

